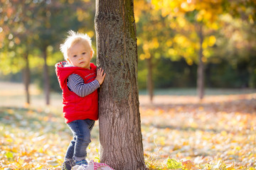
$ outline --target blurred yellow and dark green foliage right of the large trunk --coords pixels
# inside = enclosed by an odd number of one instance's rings
[[[155,87],[196,86],[198,28],[203,26],[206,84],[255,88],[255,5],[253,0],[135,1],[139,60],[145,62],[144,58],[154,57]],[[154,42],[158,42],[157,50]],[[140,75],[146,75],[145,69]]]

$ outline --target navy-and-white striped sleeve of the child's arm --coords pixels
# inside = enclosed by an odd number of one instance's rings
[[[100,83],[97,80],[85,84],[82,77],[80,77],[78,74],[70,74],[68,77],[68,88],[80,97],[85,97],[92,94],[92,92],[99,87]]]

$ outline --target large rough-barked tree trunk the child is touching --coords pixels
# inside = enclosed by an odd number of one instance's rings
[[[107,73],[99,92],[100,162],[115,170],[146,169],[133,1],[96,0],[95,30],[97,66]]]

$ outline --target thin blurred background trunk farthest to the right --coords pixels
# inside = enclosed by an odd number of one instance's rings
[[[198,77],[197,77],[197,91],[198,97],[203,99],[204,96],[204,65],[203,65],[203,26],[199,26],[198,35],[200,38],[200,50],[199,50],[199,63],[198,63]]]

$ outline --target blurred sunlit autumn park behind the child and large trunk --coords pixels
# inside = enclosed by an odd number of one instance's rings
[[[149,169],[256,169],[255,6],[134,0]],[[68,30],[90,35],[96,54],[94,19],[95,1],[0,0],[0,169],[60,169],[72,136],[54,65]]]

